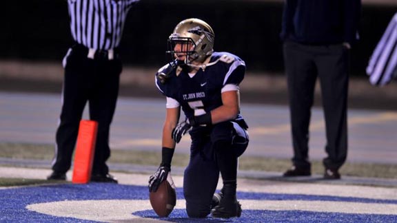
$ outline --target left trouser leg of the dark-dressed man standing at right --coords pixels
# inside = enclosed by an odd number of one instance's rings
[[[294,147],[292,162],[296,167],[310,167],[309,123],[317,71],[312,52],[304,45],[286,42],[283,50]]]

